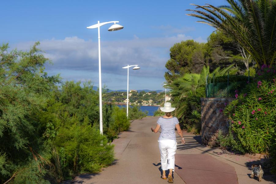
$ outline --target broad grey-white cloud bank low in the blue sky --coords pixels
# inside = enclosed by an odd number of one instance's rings
[[[161,84],[164,81],[165,64],[170,56],[170,47],[187,39],[192,37],[177,34],[170,37],[141,39],[134,35],[132,40],[101,41],[103,84],[106,83],[110,89],[116,89],[111,88],[115,86],[120,89],[118,80],[123,81],[127,72],[122,67],[127,64],[138,64],[141,69],[130,72],[133,79],[137,79],[137,85],[144,84],[144,87],[157,88],[147,79]],[[28,50],[33,43],[19,43],[15,47],[19,50]],[[73,36],[65,37],[63,40],[42,40],[39,48],[46,52],[45,56],[53,62],[53,65],[46,66],[49,74],[61,73],[66,80],[81,82],[92,79],[95,86],[98,86],[98,42]]]

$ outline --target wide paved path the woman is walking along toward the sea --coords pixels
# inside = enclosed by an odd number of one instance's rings
[[[158,148],[159,133],[153,133],[158,117],[143,118],[132,122],[130,130],[122,132],[114,140],[117,161],[97,174],[83,174],[72,182],[83,184],[155,184],[167,183],[160,179],[162,170]],[[177,184],[254,184],[256,178],[249,178],[250,170],[244,167],[248,158],[233,155],[220,149],[201,146],[200,136],[184,132],[187,144],[178,143],[176,168],[173,178]],[[180,140],[180,137],[177,137]],[[200,150],[199,150],[200,149]],[[208,152],[208,153],[207,153]],[[214,155],[211,155],[212,153]],[[230,162],[225,158],[236,162]],[[247,160],[246,160],[247,159]],[[250,160],[251,161],[251,160]],[[252,160],[258,161],[258,160]],[[237,163],[241,164],[238,165]],[[244,165],[244,166],[242,166]],[[262,183],[274,183],[268,176]]]

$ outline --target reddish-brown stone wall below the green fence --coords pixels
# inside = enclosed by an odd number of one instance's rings
[[[219,146],[218,132],[226,135],[229,131],[229,120],[223,110],[235,98],[201,98],[201,138],[204,144]]]

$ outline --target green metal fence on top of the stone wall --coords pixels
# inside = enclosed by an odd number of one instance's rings
[[[251,80],[249,76],[228,75],[206,77],[206,98],[232,98]],[[211,83],[212,82],[212,83]]]

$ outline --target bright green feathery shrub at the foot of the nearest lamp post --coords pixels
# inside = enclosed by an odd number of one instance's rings
[[[96,126],[80,123],[75,116],[64,118],[64,125],[54,140],[65,179],[78,173],[99,172],[114,161],[113,146]]]

